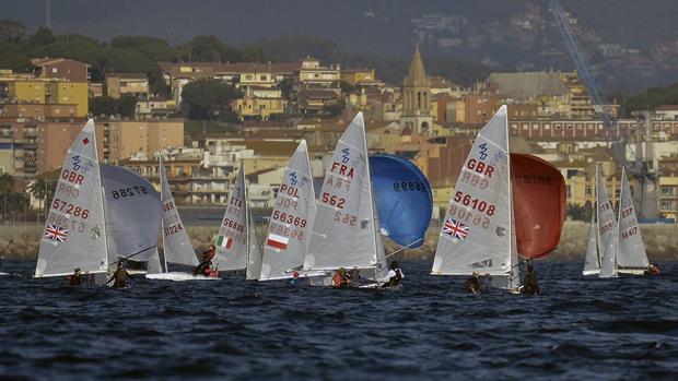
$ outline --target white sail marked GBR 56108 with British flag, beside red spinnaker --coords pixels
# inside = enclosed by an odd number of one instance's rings
[[[517,286],[506,106],[478,133],[449,201],[432,274],[505,275]]]

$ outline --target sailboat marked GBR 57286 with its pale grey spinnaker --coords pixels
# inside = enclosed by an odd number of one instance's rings
[[[150,259],[160,195],[137,174],[98,163],[94,120],[67,153],[40,240],[35,277],[105,274],[119,258]],[[156,225],[154,225],[156,224]],[[98,276],[101,275],[101,276]]]

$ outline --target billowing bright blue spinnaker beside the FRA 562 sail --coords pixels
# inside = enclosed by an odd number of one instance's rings
[[[382,234],[398,245],[420,247],[433,212],[426,177],[410,160],[393,155],[370,156],[370,172]]]

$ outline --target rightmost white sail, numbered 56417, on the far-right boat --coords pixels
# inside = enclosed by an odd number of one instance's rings
[[[626,168],[621,170],[621,193],[619,194],[619,248],[617,265],[619,267],[647,269],[650,261],[645,253],[645,245],[641,228],[635,217],[633,197]]]

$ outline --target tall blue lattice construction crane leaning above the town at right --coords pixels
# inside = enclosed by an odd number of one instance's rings
[[[574,61],[574,67],[576,68],[580,78],[588,90],[594,112],[601,120],[607,139],[611,142],[612,158],[620,166],[624,166],[627,168],[627,172],[631,177],[633,177],[633,179],[636,181],[636,184],[640,186],[635,187],[635,189],[642,191],[641,194],[636,197],[636,201],[641,205],[641,207],[639,209],[641,212],[641,217],[656,218],[656,177],[652,172],[650,172],[647,162],[639,158],[639,155],[641,155],[640,152],[636,152],[635,154],[633,152],[630,152],[632,156],[631,159],[629,159],[629,157],[627,156],[627,144],[629,142],[628,131],[619,129],[619,127],[617,126],[617,120],[612,116],[612,112],[610,110],[610,105],[604,102],[603,92],[596,83],[596,78],[593,75],[591,70],[588,70],[589,66],[586,62],[584,53],[582,52],[582,50],[580,50],[576,44],[576,40],[570,27],[570,22],[560,1],[548,1],[549,10],[551,11],[551,13],[553,13],[556,26],[558,27],[560,34],[563,37],[565,47],[568,48],[568,52],[570,53],[572,61]],[[645,116],[645,118],[647,118],[647,116]],[[640,138],[640,135],[638,138]],[[651,138],[650,134],[647,135],[647,138]],[[636,151],[638,148],[640,148],[640,144],[638,143],[640,142],[636,142]],[[646,141],[646,152],[651,152],[648,140]],[[652,158],[646,157],[646,159],[651,160]]]

